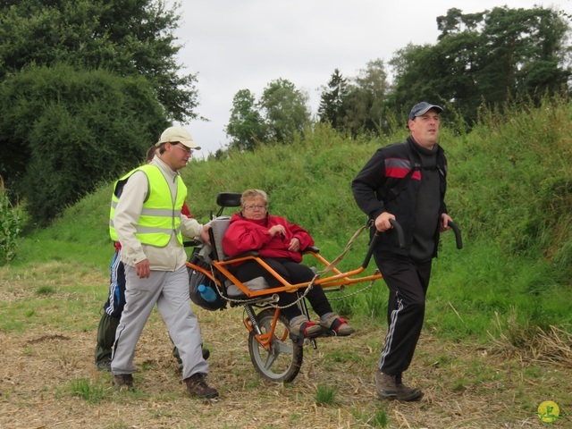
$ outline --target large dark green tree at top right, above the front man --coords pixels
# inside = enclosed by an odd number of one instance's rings
[[[452,105],[467,123],[478,105],[519,97],[539,101],[566,86],[568,24],[551,9],[495,7],[437,18],[437,45],[407,46],[391,59],[395,86],[388,106],[402,109],[425,99]]]

